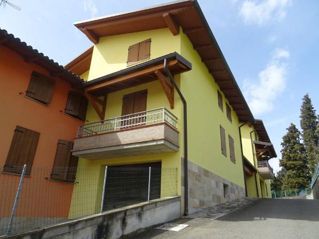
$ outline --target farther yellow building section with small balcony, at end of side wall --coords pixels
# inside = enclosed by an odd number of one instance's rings
[[[248,197],[271,198],[274,172],[268,160],[277,157],[264,123],[255,119],[241,127],[245,180]]]

